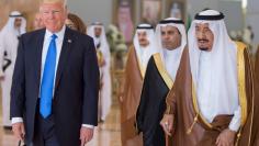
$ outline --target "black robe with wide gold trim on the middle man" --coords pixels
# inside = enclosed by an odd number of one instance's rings
[[[165,146],[166,136],[160,121],[166,110],[166,97],[172,87],[172,79],[162,66],[159,54],[148,61],[140,103],[137,109],[137,128],[143,132],[145,146]]]

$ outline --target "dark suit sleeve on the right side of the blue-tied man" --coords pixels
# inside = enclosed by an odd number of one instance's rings
[[[82,124],[98,124],[100,74],[93,40],[88,41],[83,60]]]

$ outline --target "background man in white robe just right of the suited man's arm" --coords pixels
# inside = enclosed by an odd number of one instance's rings
[[[101,75],[99,122],[104,122],[112,104],[112,87],[110,72],[111,53],[106,41],[105,30],[102,23],[92,23],[88,29],[88,35],[93,37],[98,53]]]

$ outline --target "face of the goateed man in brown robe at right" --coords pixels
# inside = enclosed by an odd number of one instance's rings
[[[211,29],[209,27],[209,23],[196,23],[195,36],[196,36],[198,47],[201,50],[207,50],[207,52],[212,50],[214,35]]]

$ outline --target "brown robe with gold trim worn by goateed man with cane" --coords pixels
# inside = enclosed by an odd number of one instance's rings
[[[243,44],[238,44],[238,56],[244,61],[237,63],[239,71],[244,72],[245,97],[247,101],[247,119],[239,130],[236,142],[238,146],[249,146],[252,144],[254,134],[252,116],[254,116],[254,71],[252,66]],[[239,60],[239,58],[238,58]],[[244,70],[240,70],[240,66]],[[241,78],[241,77],[240,77]],[[212,123],[202,120],[195,111],[194,89],[190,68],[190,59],[188,50],[183,52],[180,63],[179,72],[174,81],[174,86],[167,98],[167,112],[173,114],[173,132],[171,146],[215,146],[216,138],[225,128],[228,127],[233,115],[217,115]],[[240,103],[243,106],[243,103]]]

